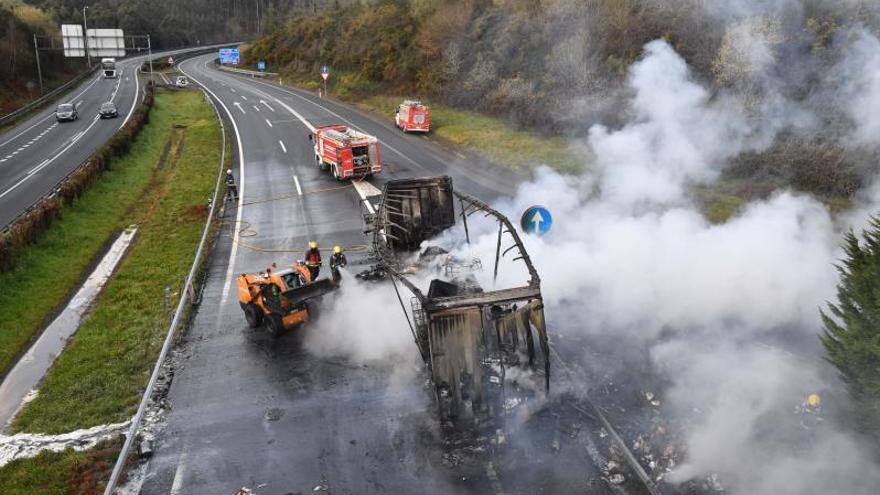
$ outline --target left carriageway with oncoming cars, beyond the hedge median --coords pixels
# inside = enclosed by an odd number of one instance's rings
[[[145,81],[138,80],[136,70],[144,60],[145,55],[118,60],[117,79],[104,79],[96,73],[55,104],[0,134],[0,229],[48,193],[128,121],[142,98]],[[98,109],[107,101],[116,103],[119,117],[98,118]],[[68,102],[76,105],[79,120],[56,122],[55,107]]]

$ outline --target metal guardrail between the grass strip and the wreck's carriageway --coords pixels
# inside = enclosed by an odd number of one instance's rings
[[[174,337],[177,335],[177,328],[180,326],[180,321],[185,313],[186,302],[190,301],[196,293],[196,291],[194,290],[195,287],[193,285],[193,282],[196,278],[196,274],[199,271],[199,266],[204,260],[204,256],[206,256],[205,246],[208,243],[208,234],[211,231],[211,225],[214,223],[214,216],[218,211],[218,205],[223,203],[223,198],[219,196],[219,193],[220,186],[222,184],[221,179],[223,177],[224,162],[226,161],[226,127],[223,124],[223,117],[217,110],[217,106],[214,104],[214,101],[211,100],[211,97],[208,95],[207,92],[205,92],[204,89],[202,89],[202,93],[211,104],[211,107],[214,108],[214,114],[217,116],[217,121],[220,123],[220,168],[217,173],[217,183],[214,186],[214,198],[211,201],[211,209],[208,212],[208,219],[205,221],[205,228],[202,231],[202,239],[199,241],[198,249],[196,249],[192,267],[190,267],[189,274],[186,276],[186,280],[183,283],[183,290],[181,291],[180,301],[177,303],[177,310],[174,311],[174,317],[171,320],[171,326],[168,328],[168,335],[165,336],[165,342],[162,343],[162,350],[159,351],[159,357],[156,359],[156,365],[153,367],[153,373],[150,375],[150,381],[147,383],[147,388],[146,390],[144,390],[144,395],[141,397],[141,403],[138,406],[137,413],[135,413],[134,418],[131,420],[131,426],[128,429],[128,433],[125,435],[125,443],[122,445],[122,450],[119,452],[119,457],[116,458],[116,464],[113,466],[113,472],[110,475],[110,480],[107,482],[107,487],[104,489],[104,495],[112,495],[112,493],[116,490],[117,483],[119,483],[119,477],[122,474],[123,469],[125,468],[125,461],[128,458],[129,453],[131,452],[132,446],[134,445],[134,438],[137,435],[138,427],[140,426],[141,421],[143,421],[144,419],[144,412],[147,409],[150,398],[153,396],[153,389],[156,387],[156,381],[158,380],[159,373],[162,370],[162,364],[168,357],[168,351],[171,350],[171,344],[174,342]],[[193,302],[193,304],[195,304],[195,302]]]

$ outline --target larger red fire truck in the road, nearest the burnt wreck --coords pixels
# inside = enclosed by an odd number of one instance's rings
[[[366,177],[382,171],[379,140],[341,124],[325,125],[309,134],[315,142],[315,162],[336,180]]]

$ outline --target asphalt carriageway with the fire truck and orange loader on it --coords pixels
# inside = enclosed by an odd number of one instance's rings
[[[247,327],[234,275],[272,261],[289,265],[309,240],[324,248],[365,242],[360,198],[315,166],[308,125],[342,122],[378,136],[386,170],[373,179],[377,187],[392,178],[448,174],[457,189],[491,200],[510,194],[518,179],[432,139],[402,134],[391,109],[380,121],[218,71],[212,58],[195,57],[181,68],[234,124],[242,205],[227,208],[141,493],[233,494],[242,486],[258,494],[604,493],[591,481],[597,473],[584,445],[566,441],[576,436],[568,432],[560,443],[552,414],[538,413],[509,433],[503,449],[486,442],[488,450],[450,456],[455,445],[440,431],[425,377],[412,371],[415,359],[364,366],[312,355],[303,340],[322,331],[320,316],[278,339]]]

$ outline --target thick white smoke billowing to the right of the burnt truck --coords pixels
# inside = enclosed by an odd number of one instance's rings
[[[718,473],[736,494],[875,493],[877,467],[852,437],[803,431],[792,414],[806,394],[839,388],[821,356],[796,359],[763,343],[815,343],[818,309],[838,281],[839,226],[804,194],[777,192],[718,225],[688,198],[690,185],[711,183],[781,128],[745,118],[724,95],[710,97],[663,41],[646,46],[629,84],[633,118],[620,129],[591,129],[590,173],[540,169],[500,205],[512,218],[533,204],[554,215],[547,236],[525,239],[551,330],[635,338],[672,381],[673,408],[699,407],[674,480]],[[796,126],[808,114],[786,118]],[[870,126],[876,115],[861,117]],[[495,233],[481,228],[459,256],[493,259]],[[500,284],[525,280],[517,265],[504,262]],[[481,282],[491,286],[491,270]],[[660,339],[668,329],[672,336]]]

